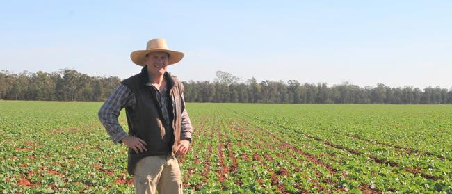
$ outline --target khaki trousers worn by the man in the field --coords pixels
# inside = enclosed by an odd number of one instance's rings
[[[182,193],[182,177],[175,156],[147,156],[136,163],[135,193]]]

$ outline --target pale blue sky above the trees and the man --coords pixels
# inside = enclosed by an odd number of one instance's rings
[[[126,79],[165,38],[168,71],[213,81],[452,87],[452,1],[0,1],[0,70]]]

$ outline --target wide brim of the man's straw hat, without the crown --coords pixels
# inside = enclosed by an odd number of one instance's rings
[[[179,52],[179,51],[172,51],[172,50],[168,50],[168,49],[149,49],[149,50],[133,51],[130,54],[130,59],[136,65],[140,65],[140,66],[144,67],[144,66],[146,66],[145,56],[152,52],[166,52],[166,53],[170,54],[170,57],[168,58],[168,65],[178,63],[179,61],[182,60],[182,58],[184,58],[184,53]]]

